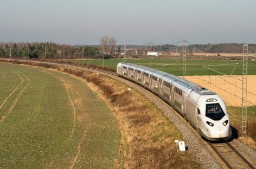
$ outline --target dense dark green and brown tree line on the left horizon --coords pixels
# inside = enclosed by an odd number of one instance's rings
[[[98,46],[71,46],[53,42],[0,42],[1,57],[27,59],[76,59],[100,55]]]

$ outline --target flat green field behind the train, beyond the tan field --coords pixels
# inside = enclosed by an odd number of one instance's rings
[[[104,67],[116,70],[117,63],[123,62],[123,59],[105,59]],[[82,63],[82,60],[74,60],[75,63]],[[139,64],[142,66],[150,66],[149,60],[145,59],[126,59],[128,63]],[[84,60],[84,64],[102,65],[102,60]],[[182,75],[182,59],[152,59],[152,68],[162,70],[164,72]],[[241,75],[242,61],[219,61],[219,60],[187,60],[186,75]],[[256,62],[248,62],[248,75],[256,75]]]

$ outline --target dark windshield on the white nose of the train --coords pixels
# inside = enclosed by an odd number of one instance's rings
[[[212,120],[220,120],[225,116],[219,103],[206,104],[206,116]]]

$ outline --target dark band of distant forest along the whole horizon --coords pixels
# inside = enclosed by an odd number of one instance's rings
[[[220,44],[190,44],[188,53],[242,53],[242,43]],[[146,52],[149,46],[126,45],[126,50],[138,49]],[[124,51],[123,45],[117,45],[114,49],[116,55]],[[151,46],[151,51],[182,52],[182,46],[164,44]],[[256,53],[256,44],[248,44],[248,53]],[[28,59],[76,59],[85,57],[100,57],[101,47],[95,46],[71,46],[69,44],[57,44],[53,42],[0,42],[0,57],[23,57]]]

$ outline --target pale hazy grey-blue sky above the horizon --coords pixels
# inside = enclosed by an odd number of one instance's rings
[[[0,0],[0,42],[256,43],[255,0]]]

